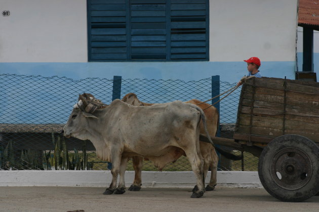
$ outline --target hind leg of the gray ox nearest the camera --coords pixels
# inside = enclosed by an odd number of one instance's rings
[[[204,172],[203,172],[203,160],[200,155],[195,154],[193,152],[185,151],[189,163],[191,164],[191,168],[196,177],[196,186],[193,189],[193,193],[190,197],[198,198],[203,196],[204,194]]]

